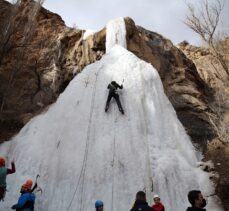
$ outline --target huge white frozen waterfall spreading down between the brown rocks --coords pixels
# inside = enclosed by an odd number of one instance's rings
[[[20,185],[38,173],[43,188],[37,194],[39,211],[90,211],[96,199],[105,202],[107,211],[130,210],[139,190],[146,191],[150,203],[159,194],[167,211],[184,211],[189,190],[214,192],[209,175],[196,167],[198,152],[157,71],[117,38],[125,35],[118,35],[120,20],[108,24],[107,54],[78,74],[48,111],[0,146],[0,154],[14,158],[17,167],[7,178],[9,192],[1,210],[9,210]],[[123,79],[125,115],[114,101],[105,113],[107,84]],[[221,211],[214,198],[208,202],[209,211]]]

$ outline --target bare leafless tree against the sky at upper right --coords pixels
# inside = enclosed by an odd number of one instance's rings
[[[191,3],[186,3],[188,14],[184,23],[196,32],[211,50],[212,55],[220,62],[223,69],[229,74],[228,62],[223,52],[219,49],[217,28],[220,24],[220,16],[224,8],[224,0],[202,0],[197,8]]]

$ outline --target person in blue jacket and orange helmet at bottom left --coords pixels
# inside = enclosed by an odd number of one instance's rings
[[[21,187],[21,196],[18,203],[13,205],[11,209],[16,211],[34,211],[35,194],[31,191],[32,182],[28,180]]]

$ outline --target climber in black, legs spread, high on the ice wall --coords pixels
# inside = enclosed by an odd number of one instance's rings
[[[110,104],[110,101],[111,101],[111,98],[113,97],[115,100],[116,100],[116,103],[118,105],[118,108],[119,108],[119,111],[124,114],[124,110],[122,108],[122,105],[121,105],[121,102],[119,100],[119,95],[117,93],[117,89],[122,89],[123,88],[123,85],[119,85],[116,81],[112,81],[108,86],[107,86],[107,89],[109,89],[109,94],[108,94],[108,97],[107,97],[107,102],[106,102],[106,107],[105,107],[105,112],[108,111],[108,108],[109,108],[109,104]]]

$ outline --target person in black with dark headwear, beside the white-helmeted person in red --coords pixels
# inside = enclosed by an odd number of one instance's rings
[[[143,191],[138,191],[134,206],[130,211],[152,211],[152,208],[146,202],[146,194]]]

